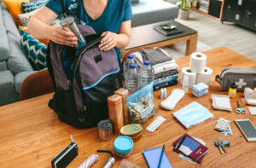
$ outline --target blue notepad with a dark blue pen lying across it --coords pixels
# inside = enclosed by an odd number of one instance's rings
[[[143,155],[148,163],[149,168],[157,168],[158,167],[161,151],[162,151],[161,147],[152,148],[152,149],[143,151]],[[163,154],[163,159],[162,159],[162,163],[161,163],[160,167],[161,168],[172,168],[172,165],[169,162],[169,160],[167,159],[165,153]]]

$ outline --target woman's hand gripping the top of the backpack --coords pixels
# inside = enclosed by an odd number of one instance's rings
[[[113,49],[116,46],[116,33],[113,32],[102,32],[101,43],[99,44],[99,48],[103,51],[108,51],[109,49]]]

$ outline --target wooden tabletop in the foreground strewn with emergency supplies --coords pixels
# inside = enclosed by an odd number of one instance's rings
[[[160,108],[160,90],[154,91],[154,103],[156,115],[143,125],[146,128],[157,116],[163,116],[167,120],[154,133],[143,131],[143,137],[134,143],[132,155],[129,161],[147,167],[143,158],[143,150],[160,147],[166,144],[166,156],[173,167],[256,167],[256,143],[247,142],[241,131],[236,126],[234,119],[251,119],[256,125],[256,117],[248,111],[246,115],[233,112],[218,111],[212,109],[211,94],[225,95],[218,89],[218,84],[213,81],[216,74],[219,74],[224,67],[253,67],[256,62],[235,53],[224,47],[211,49],[204,52],[207,58],[207,67],[213,70],[212,83],[209,94],[200,98],[195,98],[189,92],[177,103],[173,111],[166,111]],[[189,56],[177,59],[179,67],[189,66]],[[167,94],[170,95],[172,89],[181,88],[176,86],[168,87]],[[75,129],[72,126],[62,123],[57,115],[47,106],[53,94],[38,96],[26,101],[16,102],[0,107],[0,167],[51,167],[50,161],[65,148],[71,141],[69,135],[73,135],[74,140],[79,145],[79,156],[73,160],[68,167],[77,167],[90,154],[96,154],[97,149],[107,149],[113,151],[113,140],[101,142],[97,136],[97,128]],[[238,93],[236,98],[231,99],[232,108],[236,108],[236,101],[241,101],[242,93]],[[188,105],[192,101],[197,101],[207,107],[214,115],[201,125],[195,125],[186,130],[172,116],[173,112]],[[241,107],[245,107],[241,103]],[[247,109],[247,106],[245,107]],[[217,120],[223,117],[231,121],[230,125],[233,136],[221,136],[214,130]],[[188,133],[190,136],[201,138],[207,142],[209,151],[201,164],[192,164],[178,157],[173,152],[172,142],[179,136]],[[220,136],[230,140],[228,153],[219,154],[212,142],[214,136]],[[114,136],[116,137],[116,136]],[[108,154],[99,154],[100,160],[93,167],[101,167],[108,159]],[[117,159],[114,167],[118,167],[121,159]]]

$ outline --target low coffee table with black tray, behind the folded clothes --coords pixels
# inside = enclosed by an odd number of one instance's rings
[[[175,25],[177,29],[182,30],[183,32],[166,36],[155,31],[153,28],[156,25],[166,23]],[[190,55],[196,50],[197,36],[198,34],[195,30],[188,26],[183,26],[175,20],[161,21],[144,26],[132,27],[130,43],[125,47],[125,49],[121,49],[121,55],[124,56],[131,49],[136,49],[138,47],[164,47],[182,41],[187,41],[185,55]]]

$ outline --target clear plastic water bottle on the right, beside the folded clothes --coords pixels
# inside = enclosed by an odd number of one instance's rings
[[[154,69],[150,66],[150,61],[144,61],[144,66],[139,72],[140,88],[154,82]]]

